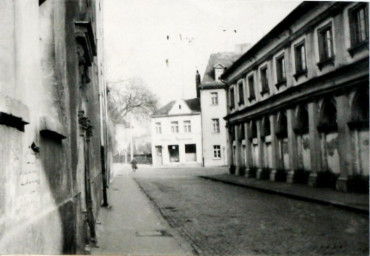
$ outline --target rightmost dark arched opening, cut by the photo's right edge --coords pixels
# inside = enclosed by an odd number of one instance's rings
[[[353,98],[351,106],[351,129],[369,127],[369,91],[359,90]]]

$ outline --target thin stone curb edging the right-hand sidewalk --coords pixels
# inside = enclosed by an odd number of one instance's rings
[[[341,203],[341,202],[338,202],[338,201],[322,200],[322,199],[317,199],[317,198],[313,198],[313,197],[307,197],[307,196],[302,196],[302,195],[287,193],[287,192],[279,191],[279,190],[275,190],[275,189],[267,189],[267,188],[262,188],[262,187],[259,187],[259,186],[253,186],[253,185],[248,185],[248,184],[236,183],[236,182],[232,182],[232,181],[228,181],[228,180],[223,180],[223,179],[219,179],[219,178],[215,178],[215,177],[210,177],[210,176],[198,176],[198,177],[199,178],[202,178],[202,179],[206,179],[206,180],[212,180],[212,181],[216,181],[216,182],[222,182],[222,183],[225,183],[225,184],[228,184],[228,185],[234,185],[234,186],[238,186],[238,187],[251,188],[251,189],[259,190],[259,191],[270,193],[270,194],[277,194],[277,195],[285,196],[285,197],[296,199],[296,200],[307,201],[307,202],[314,202],[314,203],[318,203],[318,204],[322,204],[322,205],[332,205],[332,206],[335,206],[335,207],[338,207],[338,208],[342,208],[342,209],[353,211],[353,212],[357,212],[357,213],[369,214],[369,209],[368,208],[367,209],[364,209],[362,207],[356,207],[356,206],[344,204],[344,203]]]

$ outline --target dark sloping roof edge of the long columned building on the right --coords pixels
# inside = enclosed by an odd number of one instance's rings
[[[292,12],[290,12],[282,21],[280,21],[273,29],[271,29],[265,36],[263,36],[256,44],[254,44],[246,53],[244,53],[240,58],[238,58],[221,76],[225,79],[233,71],[237,69],[245,60],[252,58],[256,52],[265,47],[271,42],[279,33],[284,29],[289,27],[298,18],[302,17],[307,13],[308,10],[315,8],[316,6],[322,4],[322,2],[315,1],[304,1],[299,4]]]

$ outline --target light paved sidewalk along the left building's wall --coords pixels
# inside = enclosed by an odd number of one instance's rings
[[[114,170],[109,188],[112,208],[100,210],[99,248],[91,254],[190,255],[190,247],[171,229],[133,180],[128,168]]]

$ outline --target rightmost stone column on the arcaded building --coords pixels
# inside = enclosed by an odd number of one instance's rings
[[[347,176],[352,172],[351,156],[351,133],[347,125],[350,118],[350,109],[347,95],[336,97],[337,101],[337,125],[338,125],[338,154],[340,176],[337,180],[336,189],[347,191]]]

